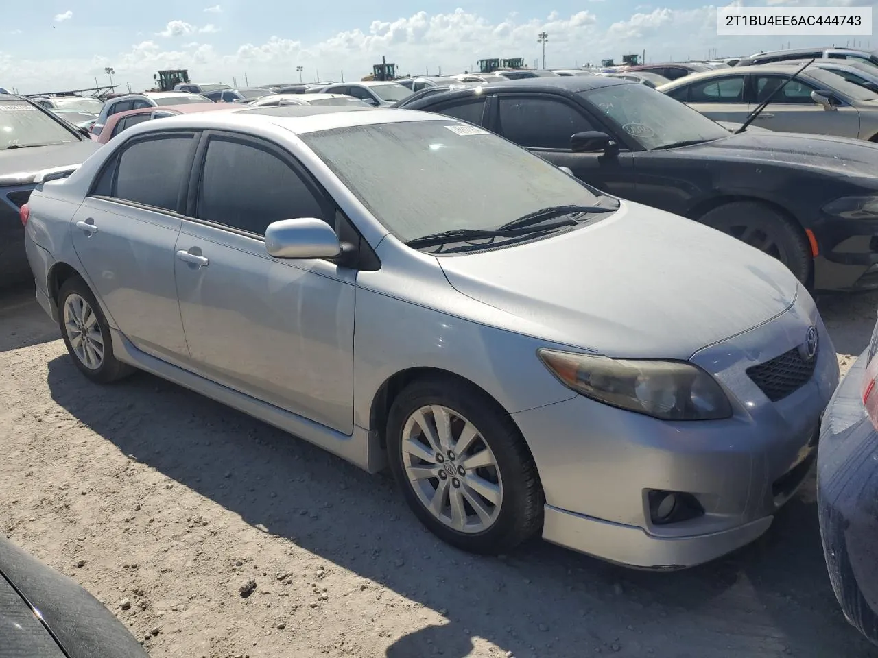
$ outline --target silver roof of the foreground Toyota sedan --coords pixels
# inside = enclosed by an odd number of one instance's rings
[[[276,125],[294,134],[335,130],[356,125],[380,125],[412,121],[455,121],[442,114],[411,110],[348,108],[327,105],[279,105],[276,107],[248,107],[228,112],[199,112],[145,121],[129,128],[132,132],[152,132],[172,127],[205,130],[243,130],[259,125]],[[128,132],[126,131],[126,132]]]

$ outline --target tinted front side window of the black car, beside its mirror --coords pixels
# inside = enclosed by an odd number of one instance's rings
[[[499,101],[500,134],[522,147],[570,148],[574,133],[594,130],[578,110],[560,101],[509,97]]]

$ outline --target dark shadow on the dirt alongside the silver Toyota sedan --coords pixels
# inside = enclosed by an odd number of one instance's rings
[[[388,476],[174,384],[138,374],[98,386],[63,356],[48,385],[123,454],[448,619],[399,638],[388,658],[463,658],[480,639],[517,658],[870,655],[832,594],[812,483],[754,545],[683,572],[632,571],[539,540],[479,557],[426,532]]]

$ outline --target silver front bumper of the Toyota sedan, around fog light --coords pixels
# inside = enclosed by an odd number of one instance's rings
[[[783,354],[816,325],[814,374],[772,403],[745,374]],[[543,538],[608,561],[649,569],[691,567],[744,546],[808,475],[820,413],[838,383],[835,349],[813,301],[703,349],[692,361],[728,390],[732,418],[666,422],[587,397],[513,414],[546,498]],[[649,492],[692,495],[694,519],[651,519]]]

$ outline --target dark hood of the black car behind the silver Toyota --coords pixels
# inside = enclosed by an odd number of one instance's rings
[[[675,149],[705,159],[765,162],[818,169],[828,175],[874,177],[878,145],[862,139],[803,135],[794,132],[751,131]]]

